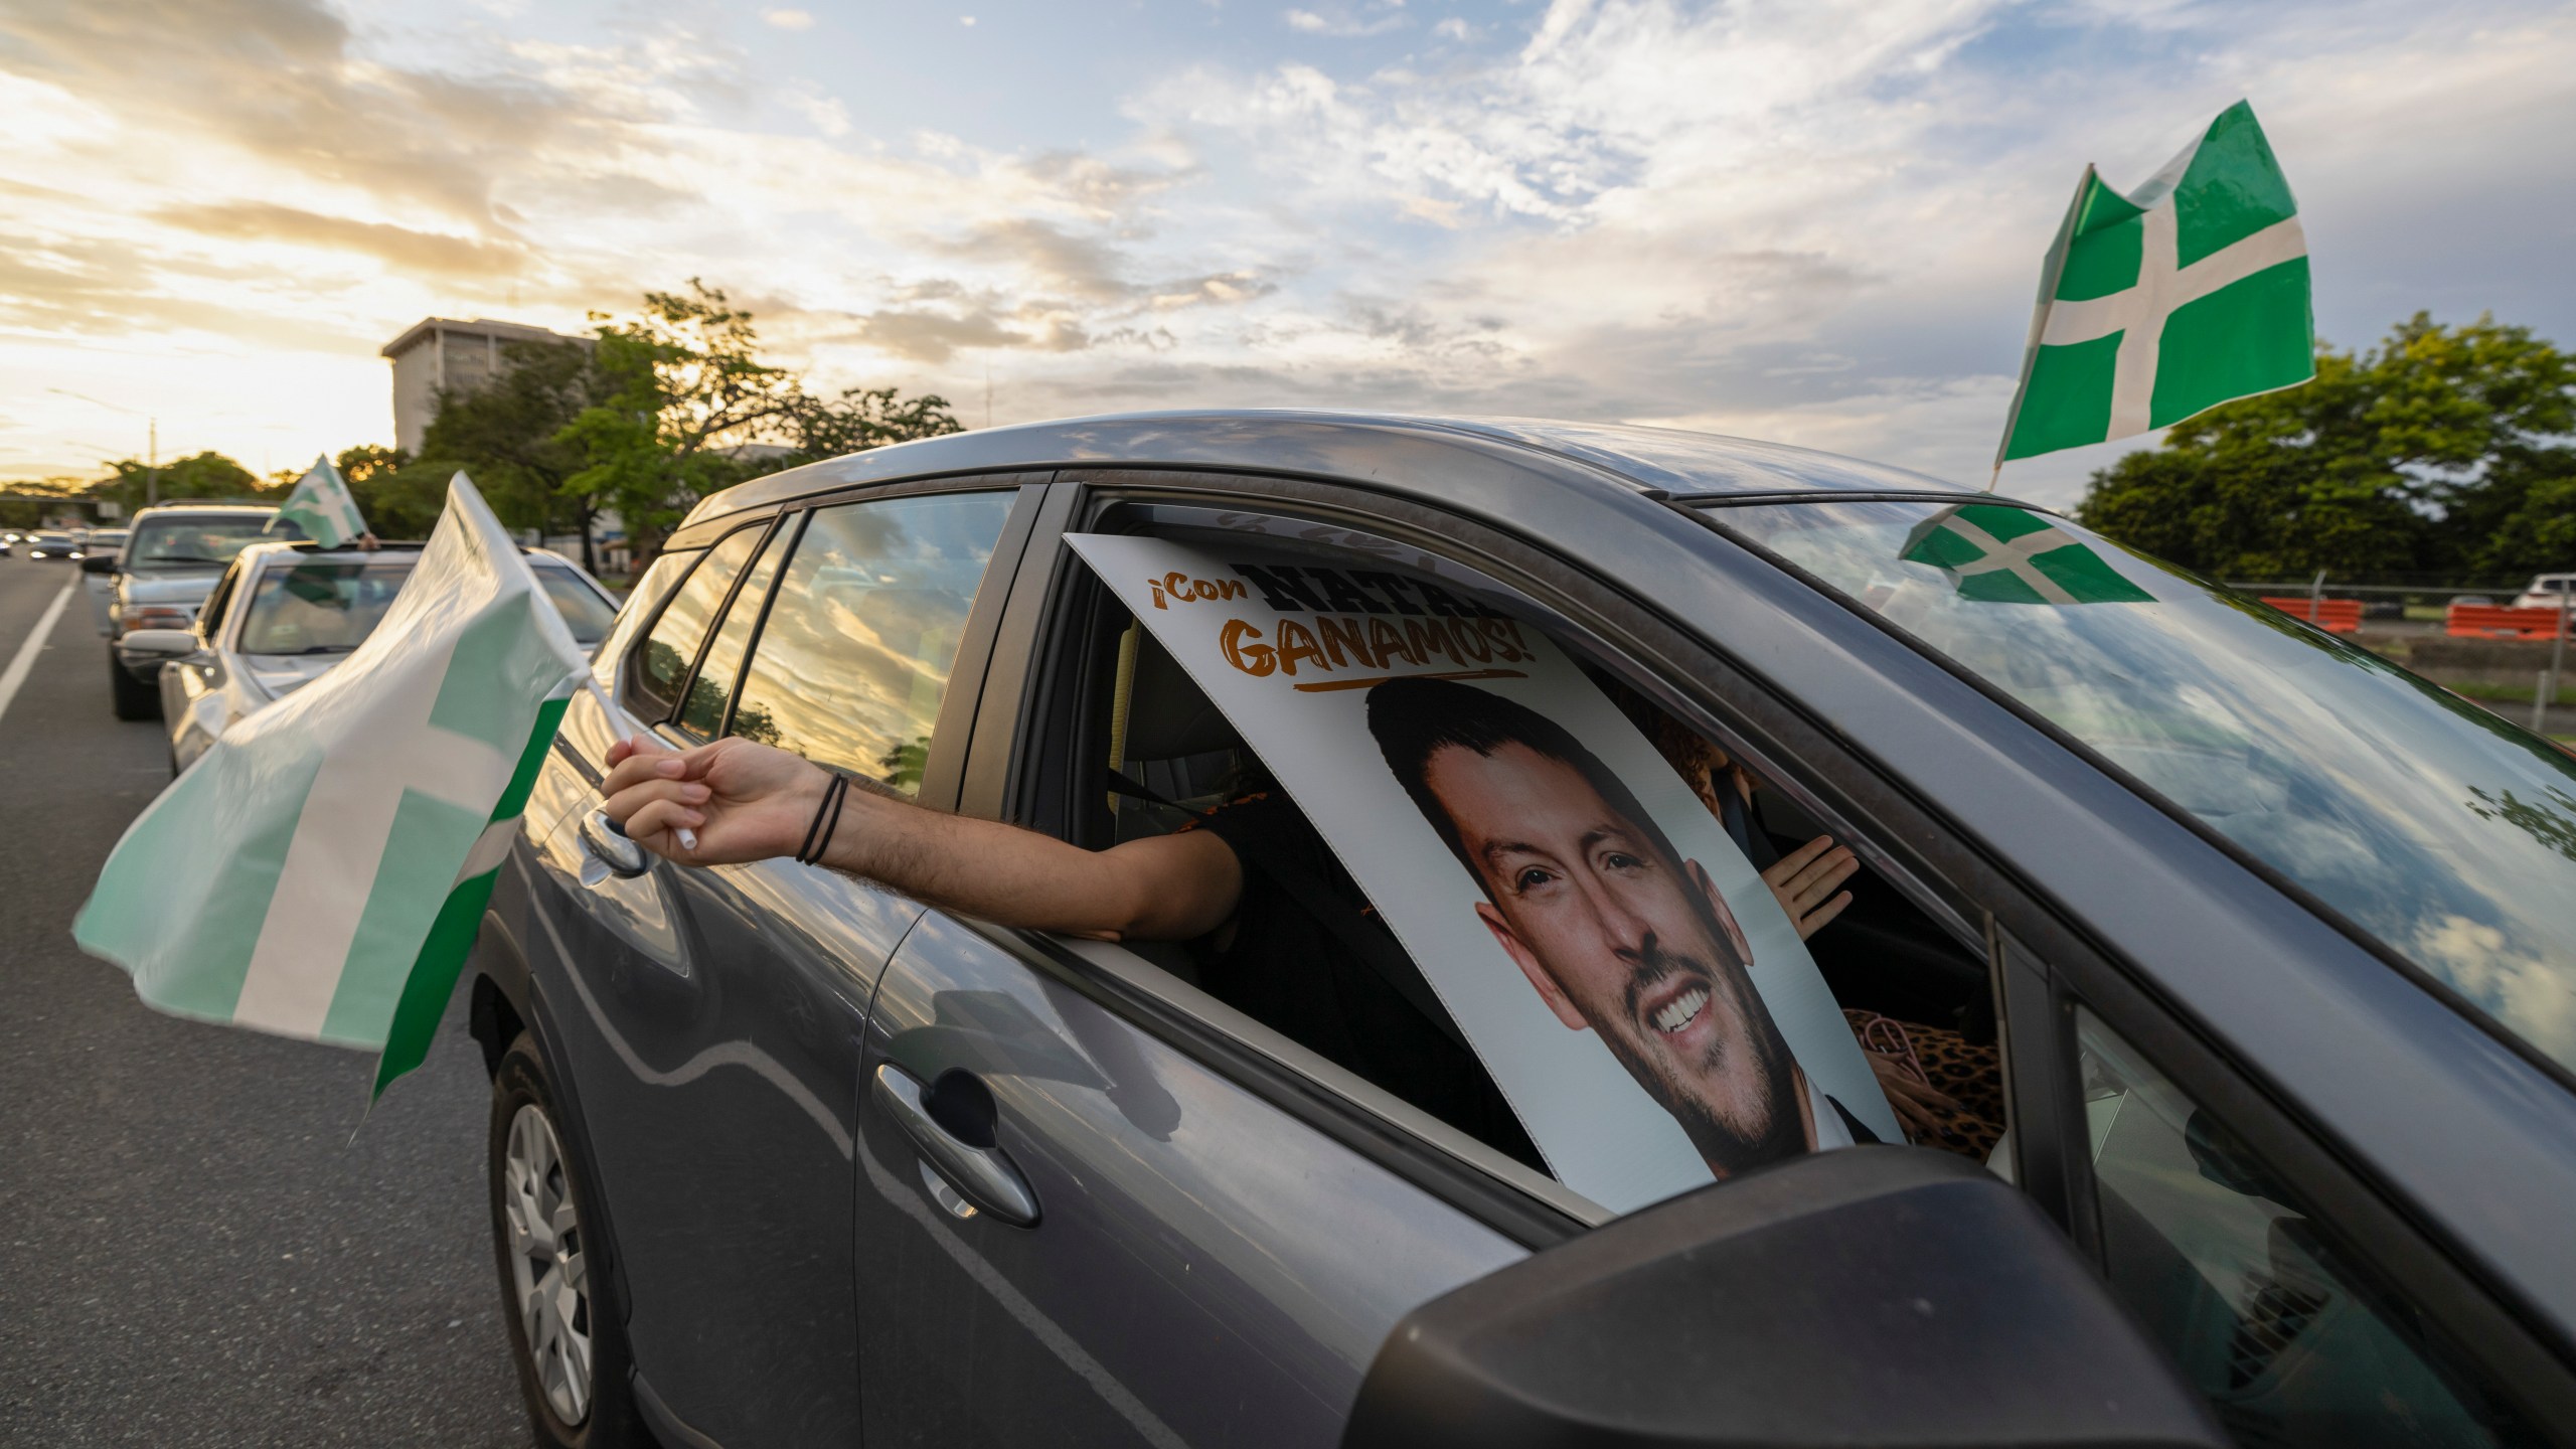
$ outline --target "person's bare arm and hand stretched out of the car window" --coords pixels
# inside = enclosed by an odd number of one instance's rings
[[[793,856],[829,784],[822,766],[750,740],[677,753],[618,740],[608,766],[608,817],[647,851],[690,866]],[[683,825],[698,833],[696,851],[680,848]],[[863,781],[853,781],[822,864],[961,915],[1110,941],[1203,936],[1234,915],[1244,890],[1234,851],[1208,830],[1084,851]]]

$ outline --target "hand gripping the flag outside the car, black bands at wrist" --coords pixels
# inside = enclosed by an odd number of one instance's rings
[[[832,776],[799,755],[726,737],[665,750],[636,735],[608,748],[603,807],[647,851],[693,866],[793,856]],[[683,851],[677,830],[698,833]]]

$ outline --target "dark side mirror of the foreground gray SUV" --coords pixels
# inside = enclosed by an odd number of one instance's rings
[[[1816,1152],[1396,1325],[1345,1449],[2228,1444],[2074,1245],[1929,1147]]]

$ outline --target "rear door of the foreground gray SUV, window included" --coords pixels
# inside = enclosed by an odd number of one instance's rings
[[[1002,549],[1015,505],[1010,487],[868,498],[732,534],[698,565],[716,572],[693,572],[641,629],[621,701],[675,748],[732,730],[889,773],[889,748],[850,737],[878,719],[917,779],[948,678],[966,655],[979,668],[981,645],[963,645],[987,629],[974,608],[992,559],[1007,575],[1018,557]],[[925,536],[927,562],[907,549]],[[922,678],[889,676],[894,642]],[[613,735],[590,714],[567,740],[598,766]],[[574,1073],[641,1379],[721,1444],[855,1439],[858,1024],[920,908],[793,861],[644,859],[590,810],[572,810],[546,853],[564,910],[541,938],[577,1003],[559,1016],[582,1018],[562,1034],[585,1057]]]

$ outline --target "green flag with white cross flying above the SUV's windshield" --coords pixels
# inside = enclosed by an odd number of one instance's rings
[[[2128,196],[2084,168],[2040,268],[2012,459],[2128,438],[2316,376],[2308,237],[2254,108]]]

